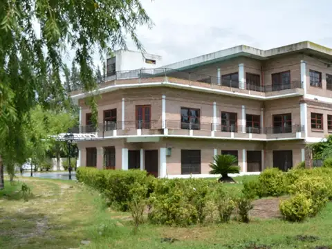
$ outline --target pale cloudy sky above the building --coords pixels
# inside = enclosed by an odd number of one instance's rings
[[[141,2],[155,25],[140,27],[138,38],[147,53],[163,56],[163,64],[241,44],[268,49],[309,40],[332,48],[329,0]]]

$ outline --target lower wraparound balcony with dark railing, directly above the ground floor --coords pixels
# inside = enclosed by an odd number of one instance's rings
[[[165,127],[165,128],[164,128]],[[117,136],[194,136],[201,138],[278,140],[304,138],[304,126],[246,127],[225,126],[213,123],[188,123],[178,120],[124,121],[99,124],[97,127],[81,126],[71,129],[73,133],[95,133],[98,138]]]

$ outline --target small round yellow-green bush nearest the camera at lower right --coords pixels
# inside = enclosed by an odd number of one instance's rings
[[[281,201],[280,212],[287,221],[304,221],[313,213],[313,201],[305,194],[296,194],[291,199]]]

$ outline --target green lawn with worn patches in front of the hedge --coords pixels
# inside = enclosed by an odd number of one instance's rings
[[[239,181],[239,179],[236,179]],[[113,212],[101,196],[73,181],[19,178],[35,197],[29,201],[0,198],[0,248],[315,248],[332,246],[332,203],[313,219],[288,223],[279,219],[253,220],[249,224],[195,225],[172,228],[141,225],[133,234],[130,214]],[[6,195],[19,189],[6,182]],[[241,185],[227,185],[240,189]],[[0,192],[3,196],[4,192]],[[297,235],[319,237],[299,241]],[[173,237],[174,243],[160,242]],[[82,240],[91,241],[83,246]],[[257,247],[252,245],[256,243]],[[250,247],[251,245],[251,247]],[[263,247],[261,247],[263,249]]]

